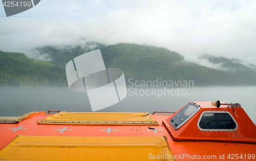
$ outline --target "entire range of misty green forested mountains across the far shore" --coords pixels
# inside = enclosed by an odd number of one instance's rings
[[[238,63],[238,60],[234,59],[229,60],[211,56],[201,58],[212,63],[221,63],[223,67],[230,69],[220,70],[186,62],[179,53],[169,51],[166,48],[128,43],[104,46],[95,42],[88,43],[87,46],[90,47],[86,47],[86,45],[85,47],[65,46],[62,48],[45,46],[30,51],[30,54],[35,53],[33,55],[34,59],[37,56],[47,55],[48,59],[46,61],[48,63],[31,60],[21,53],[0,52],[1,63],[5,62],[5,65],[0,65],[0,85],[67,86],[65,65],[73,58],[98,48],[101,50],[106,68],[122,69],[126,80],[129,78],[133,78],[134,81],[155,81],[157,78],[166,81],[182,79],[194,81],[194,86],[256,85],[255,70]],[[22,82],[20,85],[15,84],[19,79],[37,80],[38,83]],[[41,80],[47,80],[47,84]]]

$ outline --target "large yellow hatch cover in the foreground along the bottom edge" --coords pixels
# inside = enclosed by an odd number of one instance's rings
[[[0,151],[6,160],[148,160],[153,155],[174,160],[165,137],[17,136]]]

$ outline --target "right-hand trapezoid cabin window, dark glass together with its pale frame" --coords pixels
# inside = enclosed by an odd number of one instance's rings
[[[204,112],[199,120],[199,129],[203,131],[234,131],[237,129],[236,120],[226,111]]]

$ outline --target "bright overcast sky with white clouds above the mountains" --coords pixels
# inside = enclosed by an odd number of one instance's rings
[[[202,54],[256,64],[256,1],[41,0],[6,17],[0,6],[0,50],[97,41],[166,47],[186,60]],[[84,40],[86,39],[86,40]]]

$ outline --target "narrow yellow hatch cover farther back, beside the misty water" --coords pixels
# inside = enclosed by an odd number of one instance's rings
[[[148,113],[74,113],[60,112],[38,121],[39,124],[117,124],[158,125]]]

